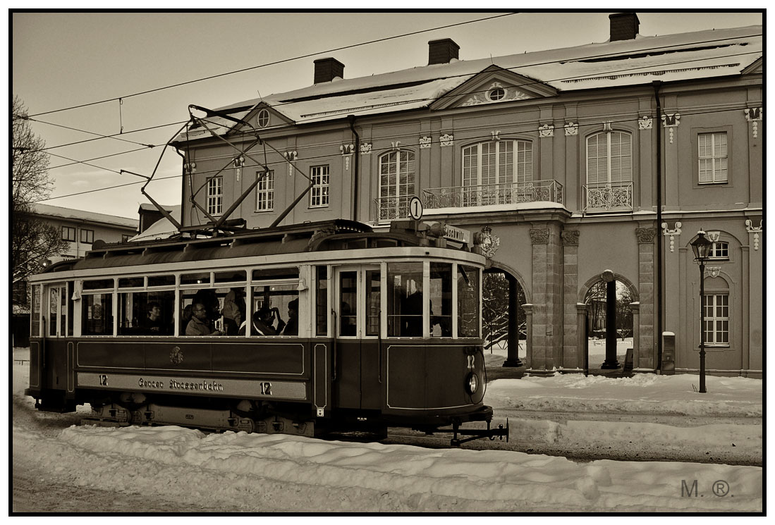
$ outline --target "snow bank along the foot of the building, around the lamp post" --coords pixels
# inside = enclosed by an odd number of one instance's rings
[[[630,378],[562,375],[498,379],[484,402],[498,408],[578,413],[661,413],[698,417],[761,417],[762,382],[744,377],[636,374]]]

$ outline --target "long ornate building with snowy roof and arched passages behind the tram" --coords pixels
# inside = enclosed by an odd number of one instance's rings
[[[182,225],[387,228],[416,195],[422,220],[476,232],[507,276],[530,372],[588,365],[591,290],[608,280],[631,303],[637,371],[696,371],[704,305],[708,370],[761,376],[762,27],[638,29],[611,15],[603,43],[481,60],[432,40],[427,65],[353,79],[315,60],[311,86],[177,137]],[[699,230],[713,242],[702,303]]]

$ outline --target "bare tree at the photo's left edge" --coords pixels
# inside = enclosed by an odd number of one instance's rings
[[[33,133],[22,101],[14,96],[11,113],[13,137],[12,166],[12,276],[13,282],[24,281],[38,273],[43,262],[67,248],[57,227],[33,214],[33,204],[46,199],[53,189],[48,174],[46,146]]]

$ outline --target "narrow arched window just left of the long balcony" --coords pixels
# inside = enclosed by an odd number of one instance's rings
[[[415,194],[415,153],[408,149],[380,156],[379,220],[406,218]]]

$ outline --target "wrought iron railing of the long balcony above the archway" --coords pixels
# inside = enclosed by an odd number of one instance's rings
[[[493,204],[556,202],[563,204],[563,185],[556,180],[532,180],[507,184],[436,187],[422,190],[425,208],[470,208]]]

